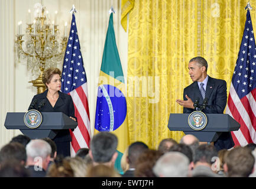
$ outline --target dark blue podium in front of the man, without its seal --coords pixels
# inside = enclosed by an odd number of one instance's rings
[[[195,135],[200,142],[215,142],[222,132],[237,131],[240,124],[228,114],[206,113],[208,123],[200,131],[190,128],[189,113],[170,113],[168,129],[183,131],[186,135]]]

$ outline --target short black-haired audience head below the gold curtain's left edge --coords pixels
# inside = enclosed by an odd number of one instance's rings
[[[148,149],[148,146],[144,142],[134,142],[129,145],[128,148],[128,159],[129,165],[134,165],[137,161],[138,157],[142,152]]]

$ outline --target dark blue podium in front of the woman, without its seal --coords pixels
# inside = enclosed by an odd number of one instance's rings
[[[77,122],[61,112],[41,112],[42,123],[38,128],[31,129],[24,123],[26,112],[8,112],[5,118],[5,128],[20,129],[20,131],[31,139],[46,138],[53,139],[62,129],[75,129]]]

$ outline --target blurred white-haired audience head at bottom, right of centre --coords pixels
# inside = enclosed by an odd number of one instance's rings
[[[157,177],[187,177],[189,158],[180,152],[166,152],[153,167]]]

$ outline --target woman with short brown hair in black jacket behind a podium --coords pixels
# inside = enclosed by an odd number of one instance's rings
[[[60,92],[60,75],[61,71],[57,68],[49,68],[44,71],[42,80],[47,90],[33,97],[28,110],[36,109],[39,112],[62,112],[76,121],[72,97],[69,94]],[[72,138],[69,130],[61,130],[53,138],[53,141],[57,146],[57,155],[63,155],[64,157],[70,156],[70,142]]]

